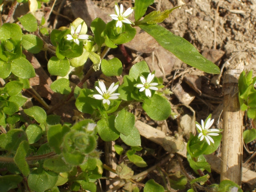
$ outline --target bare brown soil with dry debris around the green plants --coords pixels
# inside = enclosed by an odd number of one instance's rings
[[[117,2],[122,3],[125,9],[131,4],[134,5],[131,0],[118,0]],[[138,62],[145,59],[151,70],[156,70],[156,75],[162,76],[164,84],[174,92],[169,100],[172,102],[172,108],[178,114],[177,119],[169,118],[166,122],[155,122],[143,113],[140,106],[137,106],[137,109],[134,110],[137,119],[155,128],[167,130],[166,133],[170,135],[174,135],[176,131],[186,132],[186,130],[182,129],[182,123],[189,121],[187,117],[184,118],[186,114],[189,115],[189,118],[201,122],[201,119],[205,119],[209,113],[212,113],[215,119],[220,118],[219,124],[216,126],[221,128],[221,106],[223,102],[222,75],[224,71],[237,67],[244,68],[244,70],[247,71],[251,69],[256,71],[256,0],[155,0],[155,3],[148,8],[148,12],[156,9],[171,9],[180,5],[182,5],[180,9],[175,9],[169,15],[169,18],[164,20],[163,23],[160,23],[160,25],[169,29],[175,35],[185,38],[205,57],[215,62],[215,64],[223,69],[220,75],[206,74],[183,64],[180,60],[175,58],[174,55],[161,48],[154,39],[145,36],[144,33],[139,36],[139,39],[143,43],[138,44],[136,40],[125,45],[133,61],[137,59],[136,61]],[[42,15],[48,17],[49,20],[47,20],[44,26],[50,29],[60,26],[69,26],[76,17],[81,17],[86,21],[89,27],[90,22],[95,17],[101,17],[105,22],[111,20],[108,15],[113,13],[114,1],[94,0],[91,2],[90,0],[57,0],[53,7],[54,12],[49,15],[51,6],[52,3],[44,4],[40,11],[37,12],[38,20],[41,20]],[[24,11],[24,9],[22,11]],[[14,17],[20,17],[22,11],[15,12]],[[58,13],[60,15],[58,15]],[[153,51],[155,55],[154,61],[160,61],[160,65],[154,62],[152,64]],[[125,59],[119,49],[111,50],[109,55],[115,55],[120,58],[127,68],[126,72],[128,72],[131,66],[125,63]],[[47,57],[48,59],[50,58],[49,53]],[[36,58],[46,72],[44,76],[49,76],[44,54],[37,54]],[[195,76],[195,81],[189,84],[185,79],[186,74]],[[54,77],[51,78],[54,80]],[[92,79],[87,81],[87,86],[90,87],[90,84],[98,78],[102,78],[100,77],[100,73],[96,73]],[[46,84],[50,83],[44,82]],[[76,82],[76,76],[73,77],[73,82]],[[38,91],[42,93],[39,89]],[[184,91],[187,94],[185,98],[184,96],[181,97],[180,91]],[[52,100],[53,97],[54,96],[49,97],[49,95],[44,96],[44,98],[49,100]],[[51,105],[54,105],[54,103],[61,99],[60,96],[56,96],[56,98],[56,101],[52,101]],[[73,122],[71,117],[74,116],[73,110],[75,109],[74,103],[71,102],[68,108],[56,111],[56,113],[63,116],[66,121]],[[250,121],[246,118],[244,119],[244,127],[250,127]],[[191,131],[193,127],[195,127],[195,125],[191,125],[189,131]],[[187,141],[186,136],[185,134],[184,140]],[[122,140],[117,140],[116,144],[129,149],[122,143]],[[143,151],[140,151],[140,155],[143,156],[149,167],[158,163],[159,160],[166,155],[166,151],[160,145],[145,138],[142,138],[142,147]],[[255,151],[255,142],[250,143],[248,148],[250,151]],[[102,152],[105,151],[104,142],[101,140],[99,140],[99,149],[102,150]],[[251,155],[252,154],[244,150],[243,160],[246,161]],[[255,171],[255,160],[255,158],[252,158],[250,162],[247,163],[247,167],[250,167],[253,171]],[[105,161],[104,156],[102,156],[102,161]],[[193,172],[189,169],[186,159],[183,159],[183,164],[187,172]],[[145,170],[138,169],[136,166],[132,166],[132,169],[135,172],[134,174]],[[148,179],[154,178],[156,182],[164,185],[164,176],[161,176],[160,173],[170,174],[177,171],[180,171],[180,166],[175,156],[169,164],[165,164],[165,166],[160,169],[151,172],[141,182],[143,183]],[[212,172],[210,176],[212,182],[219,182],[219,175],[217,173]],[[102,181],[102,183],[104,183],[104,181]],[[169,185],[168,182],[167,185]],[[108,190],[105,188],[105,184],[102,184],[102,187],[103,191]],[[119,189],[119,191],[129,191],[131,189],[128,186],[126,187],[128,189]],[[256,186],[243,184],[242,187],[244,191],[252,191]],[[186,191],[187,189],[189,188],[178,191]],[[175,190],[170,189],[170,191]]]

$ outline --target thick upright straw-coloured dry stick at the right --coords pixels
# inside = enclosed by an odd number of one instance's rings
[[[221,146],[221,180],[231,180],[241,186],[243,153],[243,112],[238,97],[238,79],[241,70],[224,73],[223,133]]]

